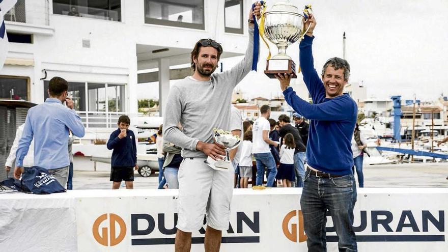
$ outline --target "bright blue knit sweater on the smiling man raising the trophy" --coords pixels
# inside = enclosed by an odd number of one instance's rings
[[[299,114],[310,119],[306,158],[314,169],[322,172],[351,174],[353,154],[351,139],[357,119],[357,106],[348,94],[325,98],[325,88],[314,69],[312,37],[300,43],[300,68],[313,104],[301,99],[292,88],[283,94],[288,104]]]

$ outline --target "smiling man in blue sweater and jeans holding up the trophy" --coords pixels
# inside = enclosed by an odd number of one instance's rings
[[[311,25],[311,26],[310,26]],[[350,148],[357,118],[357,106],[343,94],[350,74],[347,61],[329,59],[322,69],[322,80],[314,69],[312,54],[316,20],[311,15],[305,23],[309,32],[300,43],[300,67],[313,104],[301,99],[289,86],[291,76],[278,75],[285,100],[293,109],[311,120],[300,206],[308,251],[326,251],[325,223],[327,210],[339,237],[339,251],[357,251],[353,231],[353,207],[356,185],[352,174]]]

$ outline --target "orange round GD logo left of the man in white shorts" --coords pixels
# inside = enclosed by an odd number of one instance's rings
[[[126,235],[126,224],[124,223],[124,220],[117,214],[109,213],[110,244],[108,244],[107,228],[101,229],[101,235],[99,233],[100,224],[104,220],[107,220],[107,213],[100,215],[93,223],[93,237],[99,244],[103,246],[115,246],[124,239]],[[120,227],[120,234],[118,235],[118,237],[115,236],[115,223],[118,223],[118,226]]]

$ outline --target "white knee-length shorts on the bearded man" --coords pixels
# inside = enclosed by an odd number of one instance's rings
[[[204,226],[225,231],[229,228],[234,171],[216,171],[205,158],[185,158],[178,173],[179,197],[177,228],[195,232]]]

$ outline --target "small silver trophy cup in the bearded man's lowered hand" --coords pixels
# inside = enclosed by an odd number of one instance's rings
[[[215,170],[227,170],[232,166],[229,151],[237,148],[241,144],[241,138],[238,135],[233,135],[230,131],[214,128],[213,139],[216,143],[226,148],[226,156],[222,160],[214,160],[213,158],[208,157],[204,162]]]

